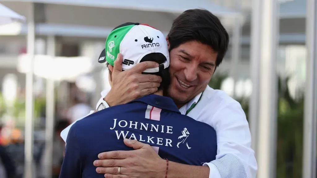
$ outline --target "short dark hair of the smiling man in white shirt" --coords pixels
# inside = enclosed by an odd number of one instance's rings
[[[210,46],[218,53],[216,67],[222,62],[229,45],[229,35],[218,17],[204,9],[184,11],[173,21],[167,36],[169,51],[188,41]]]

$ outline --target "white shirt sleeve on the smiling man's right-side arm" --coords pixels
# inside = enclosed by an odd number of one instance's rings
[[[251,149],[251,133],[238,102],[221,108],[212,118],[217,133],[216,160],[209,166],[209,178],[255,178],[257,163]]]

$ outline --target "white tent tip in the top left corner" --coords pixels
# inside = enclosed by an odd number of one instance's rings
[[[0,25],[10,24],[13,22],[24,22],[25,17],[0,4]]]

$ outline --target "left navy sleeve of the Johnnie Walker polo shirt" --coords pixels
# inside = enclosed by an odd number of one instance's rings
[[[61,166],[59,178],[81,177],[80,149],[73,125],[66,140],[65,157]]]

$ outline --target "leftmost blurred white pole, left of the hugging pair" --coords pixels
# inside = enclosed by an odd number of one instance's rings
[[[35,22],[34,3],[30,3],[28,9],[28,35],[27,52],[30,60],[30,70],[26,74],[25,88],[25,141],[24,141],[24,174],[25,178],[34,177],[33,169],[33,132],[34,132],[34,96],[33,96],[33,70],[34,70],[34,48],[35,48]]]

